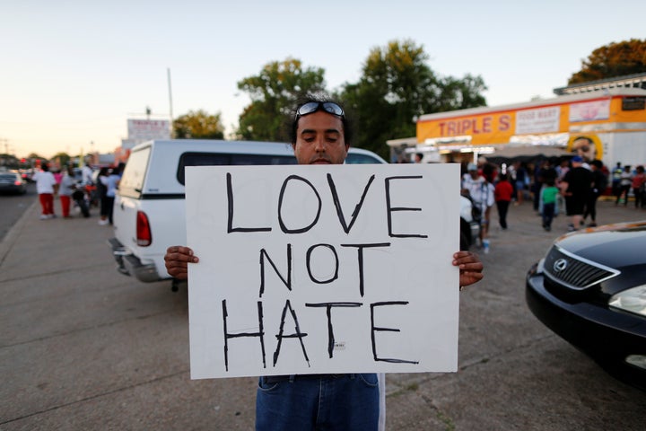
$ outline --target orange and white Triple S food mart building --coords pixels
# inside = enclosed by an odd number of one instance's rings
[[[612,82],[585,92],[557,89],[563,95],[554,99],[426,114],[417,120],[415,145],[410,138],[388,145],[391,154],[459,163],[505,152],[573,154],[576,141],[607,166],[646,163],[646,90]]]

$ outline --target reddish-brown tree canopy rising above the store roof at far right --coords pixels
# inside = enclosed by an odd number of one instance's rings
[[[570,77],[568,84],[643,72],[646,72],[646,40],[624,40],[592,51],[587,59],[581,60],[581,70]]]

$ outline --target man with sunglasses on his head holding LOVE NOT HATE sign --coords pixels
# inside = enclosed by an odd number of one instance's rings
[[[299,164],[343,164],[351,130],[344,110],[334,101],[309,98],[295,110],[291,142]],[[458,251],[459,286],[483,277],[483,265],[469,251]],[[188,247],[169,247],[165,258],[171,277],[188,278],[188,263],[199,259]],[[377,374],[270,375],[260,378],[258,430],[328,429],[377,430],[380,393]]]

